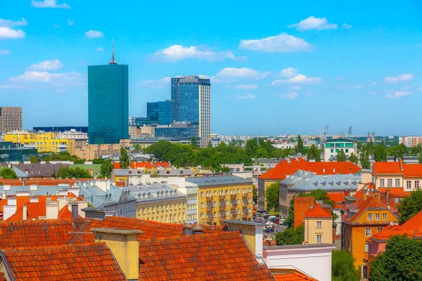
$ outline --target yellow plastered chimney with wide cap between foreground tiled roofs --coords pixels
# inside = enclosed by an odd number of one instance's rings
[[[91,228],[95,242],[106,242],[127,280],[139,279],[139,242],[141,230]]]

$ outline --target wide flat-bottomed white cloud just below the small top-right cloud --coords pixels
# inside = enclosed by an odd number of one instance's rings
[[[312,51],[314,46],[304,39],[286,33],[257,40],[241,40],[239,48],[263,52]]]

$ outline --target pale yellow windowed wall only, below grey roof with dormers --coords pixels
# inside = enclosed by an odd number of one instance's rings
[[[185,223],[186,198],[136,202],[136,218],[160,223]]]

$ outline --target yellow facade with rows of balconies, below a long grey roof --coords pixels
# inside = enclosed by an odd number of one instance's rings
[[[227,219],[252,221],[252,184],[198,186],[198,223],[222,226]]]

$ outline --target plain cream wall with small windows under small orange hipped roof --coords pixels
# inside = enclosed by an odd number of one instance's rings
[[[318,227],[317,222],[321,222]],[[321,235],[321,241],[317,241],[316,235]],[[333,220],[332,218],[305,218],[305,243],[333,243]]]

